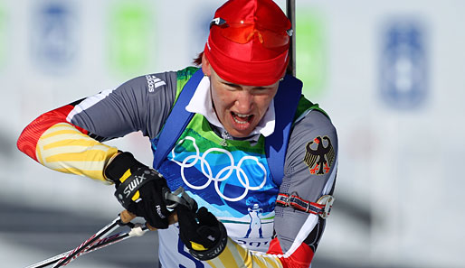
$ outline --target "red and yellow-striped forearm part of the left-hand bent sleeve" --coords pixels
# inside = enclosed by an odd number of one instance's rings
[[[67,105],[37,117],[19,136],[18,149],[54,171],[106,181],[103,169],[118,149],[90,138],[89,131],[66,121]]]

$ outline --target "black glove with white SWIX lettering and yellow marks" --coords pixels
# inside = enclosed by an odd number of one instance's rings
[[[164,197],[169,189],[161,174],[138,162],[130,152],[120,152],[105,168],[105,176],[115,182],[115,196],[124,208],[144,217],[152,227],[168,227]]]

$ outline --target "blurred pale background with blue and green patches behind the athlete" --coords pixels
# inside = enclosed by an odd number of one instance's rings
[[[2,267],[74,248],[121,210],[112,187],[19,152],[24,126],[136,76],[190,65],[223,2],[0,2]],[[465,2],[296,2],[297,75],[339,135],[337,200],[312,267],[465,267]],[[141,134],[110,144],[151,163]],[[157,267],[156,238],[70,267]]]

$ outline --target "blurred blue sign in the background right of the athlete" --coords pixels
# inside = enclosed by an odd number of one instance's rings
[[[389,106],[409,109],[425,101],[428,79],[424,39],[418,23],[397,21],[385,29],[380,88]]]

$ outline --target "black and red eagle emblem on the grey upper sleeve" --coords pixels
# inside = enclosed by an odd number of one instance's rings
[[[326,146],[323,144],[323,141],[326,141]],[[312,142],[307,143],[306,149],[304,162],[308,165],[310,173],[317,175],[327,174],[336,156],[329,138],[327,136],[323,138],[318,136]]]

